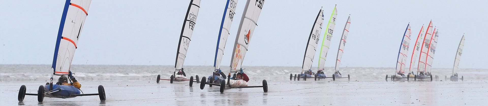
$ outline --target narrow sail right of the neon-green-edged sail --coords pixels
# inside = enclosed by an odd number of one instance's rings
[[[342,54],[344,53],[344,46],[346,45],[347,34],[349,33],[349,25],[351,24],[351,16],[347,17],[346,26],[344,26],[344,30],[342,31],[342,38],[339,42],[339,49],[337,50],[337,58],[336,58],[336,71],[339,71],[339,65],[341,65]]]

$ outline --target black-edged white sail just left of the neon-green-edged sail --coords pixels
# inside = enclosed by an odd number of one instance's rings
[[[324,22],[324,11],[322,8],[319,14],[315,18],[315,23],[313,23],[312,30],[308,36],[308,42],[305,48],[304,62],[302,65],[302,71],[307,71],[312,68],[313,57],[317,51],[317,45],[319,44],[320,33],[322,32],[322,23]]]

